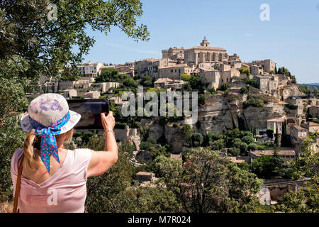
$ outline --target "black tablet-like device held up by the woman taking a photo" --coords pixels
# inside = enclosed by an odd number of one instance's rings
[[[103,129],[101,113],[108,114],[108,99],[69,99],[69,109],[81,114],[76,129]]]

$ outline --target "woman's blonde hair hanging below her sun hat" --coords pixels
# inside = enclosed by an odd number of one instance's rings
[[[55,139],[57,140],[57,146],[65,143],[67,141],[71,141],[73,136],[73,128],[66,133],[61,135],[55,135]],[[38,168],[43,165],[43,162],[40,158],[40,143],[41,143],[41,135],[35,135],[35,130],[31,130],[27,133],[26,140],[24,140],[23,151],[23,167],[28,167],[30,170],[38,170]],[[61,141],[61,139],[64,140]],[[35,150],[36,149],[36,150]]]

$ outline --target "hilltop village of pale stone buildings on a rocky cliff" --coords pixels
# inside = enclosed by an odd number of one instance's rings
[[[152,165],[157,152],[181,160],[186,150],[206,147],[220,150],[239,164],[250,165],[274,153],[287,163],[301,151],[303,139],[319,131],[318,94],[302,91],[289,70],[277,68],[270,59],[242,62],[236,53],[228,55],[227,50],[212,47],[206,38],[192,48],[162,50],[162,59],[120,65],[86,62],[76,68],[76,79],[41,77],[38,94],[110,99],[116,138],[132,146],[132,162],[141,170]],[[138,85],[145,92],[198,91],[198,122],[185,125],[181,117],[124,118],[121,94],[136,92]],[[86,133],[75,133],[73,145],[81,144]],[[316,152],[318,144],[319,140],[313,144]],[[151,185],[156,179],[147,170],[136,175],[141,185]],[[274,177],[262,178],[269,182]],[[286,192],[282,190],[271,192],[272,199]]]

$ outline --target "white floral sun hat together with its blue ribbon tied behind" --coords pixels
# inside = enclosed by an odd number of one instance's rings
[[[57,154],[55,135],[71,130],[81,118],[81,115],[69,110],[67,100],[60,94],[42,94],[31,101],[28,113],[23,114],[21,126],[24,131],[35,129],[36,135],[41,135],[41,160],[50,173],[50,156],[60,163]]]

